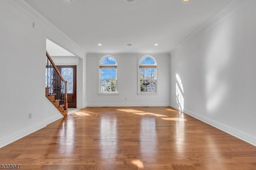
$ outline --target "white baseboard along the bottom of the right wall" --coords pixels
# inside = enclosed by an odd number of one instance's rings
[[[175,108],[175,109],[177,109],[177,110],[179,110],[176,107],[176,104],[171,103],[170,106]],[[220,123],[218,121],[214,121],[214,120],[209,119],[207,117],[198,115],[198,114],[196,114],[196,113],[194,113],[192,111],[189,111],[188,109],[184,109],[183,112],[186,113],[187,115],[190,115],[190,116],[192,116],[192,117],[194,117],[194,118],[204,122],[204,123],[207,123],[207,124],[209,124],[209,125],[211,125],[213,127],[216,127],[216,128],[218,128],[218,129],[220,129],[220,130],[222,130],[222,131],[224,131],[224,132],[226,132],[228,134],[231,134],[232,136],[235,136],[235,137],[237,137],[237,138],[239,138],[241,140],[244,140],[245,142],[248,142],[248,143],[256,146],[256,137],[255,136],[252,136],[250,134],[247,134],[245,132],[237,130],[236,128],[232,128],[232,127],[229,127],[227,125],[224,125],[223,123]]]

